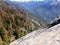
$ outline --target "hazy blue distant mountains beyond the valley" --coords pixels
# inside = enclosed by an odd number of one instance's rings
[[[9,1],[10,2],[10,1]],[[53,20],[60,15],[60,1],[46,0],[39,2],[10,2],[12,5],[21,8],[31,14],[34,14],[38,19],[44,19],[47,22]]]

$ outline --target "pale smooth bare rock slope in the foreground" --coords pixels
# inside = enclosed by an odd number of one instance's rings
[[[60,24],[34,31],[9,45],[60,45]]]

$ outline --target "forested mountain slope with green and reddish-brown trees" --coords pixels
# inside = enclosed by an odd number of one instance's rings
[[[43,25],[28,13],[0,0],[0,45],[7,45]]]

